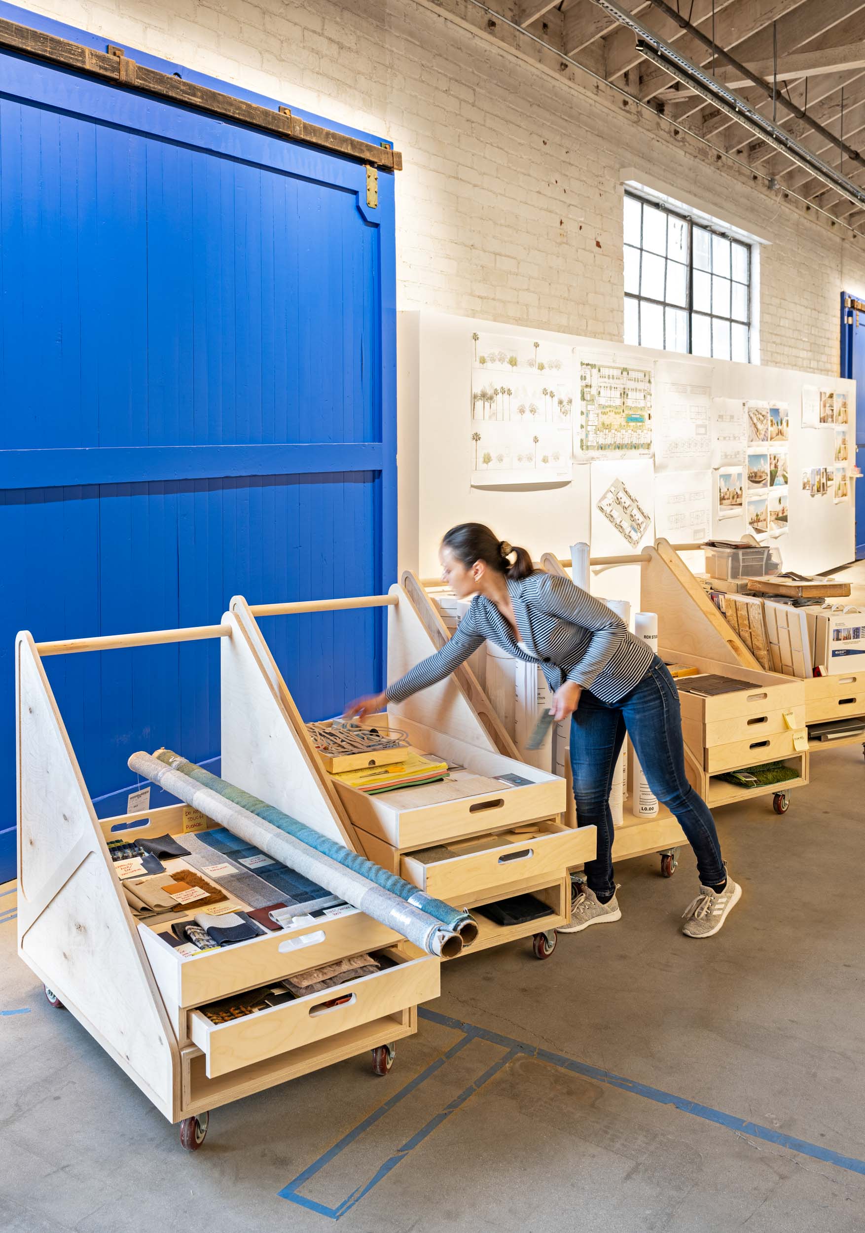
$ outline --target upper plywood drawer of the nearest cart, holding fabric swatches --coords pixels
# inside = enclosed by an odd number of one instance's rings
[[[218,922],[218,917],[213,920]],[[144,925],[139,932],[166,1006],[181,1007],[216,1001],[402,940],[400,933],[360,911],[191,956],[177,954]]]

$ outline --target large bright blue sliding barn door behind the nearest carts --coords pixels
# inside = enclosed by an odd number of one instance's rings
[[[235,593],[394,580],[393,175],[371,207],[362,163],[0,52],[0,219],[2,882],[18,629],[214,624]],[[382,684],[381,612],[265,633],[306,718]],[[134,750],[218,755],[218,662],[46,660],[102,816]]]

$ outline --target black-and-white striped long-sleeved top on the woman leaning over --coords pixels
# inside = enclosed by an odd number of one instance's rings
[[[654,657],[648,642],[569,578],[537,571],[519,582],[508,580],[520,641],[485,596],[471,607],[440,651],[421,660],[387,688],[389,702],[402,702],[453,672],[489,639],[516,658],[538,663],[551,689],[573,681],[601,702],[615,705],[646,676]]]

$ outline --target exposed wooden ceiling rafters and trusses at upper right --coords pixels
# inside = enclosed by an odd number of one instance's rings
[[[585,69],[779,192],[865,233],[860,205],[642,54],[637,33],[596,0],[436,0],[440,11],[453,5],[463,25],[511,48],[525,32],[529,58],[550,68],[548,53],[559,54],[563,73]],[[865,192],[865,0],[616,0],[616,7]]]

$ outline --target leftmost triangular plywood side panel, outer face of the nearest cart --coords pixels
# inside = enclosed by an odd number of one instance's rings
[[[18,953],[174,1118],[180,1054],[30,634],[16,684]]]

